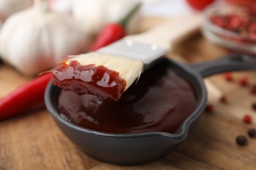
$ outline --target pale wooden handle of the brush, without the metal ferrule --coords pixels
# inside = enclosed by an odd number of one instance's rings
[[[170,50],[171,46],[186,39],[200,28],[202,16],[198,13],[184,14],[137,35],[128,35],[125,39],[146,44],[154,44]]]

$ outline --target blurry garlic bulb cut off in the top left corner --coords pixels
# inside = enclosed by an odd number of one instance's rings
[[[0,0],[0,20],[4,21],[14,12],[28,9],[32,0]]]

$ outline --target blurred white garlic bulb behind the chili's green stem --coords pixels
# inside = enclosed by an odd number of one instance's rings
[[[121,20],[137,3],[137,0],[76,0],[72,15],[81,20],[89,35],[96,35],[104,25]],[[127,33],[137,33],[139,23],[137,12],[127,24]]]

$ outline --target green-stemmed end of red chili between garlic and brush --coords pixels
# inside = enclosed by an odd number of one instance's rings
[[[131,19],[131,16],[139,10],[141,6],[141,3],[137,3],[135,7],[123,18],[120,22],[112,23],[106,25],[96,37],[95,42],[91,45],[89,48],[89,51],[95,51],[99,48],[102,48],[103,46],[106,46],[108,44],[111,44],[112,42],[115,42],[126,35],[125,27],[127,25],[127,22]]]

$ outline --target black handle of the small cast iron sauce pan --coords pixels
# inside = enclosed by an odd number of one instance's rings
[[[192,63],[188,67],[203,77],[227,71],[256,69],[256,56],[229,54],[213,61]]]

